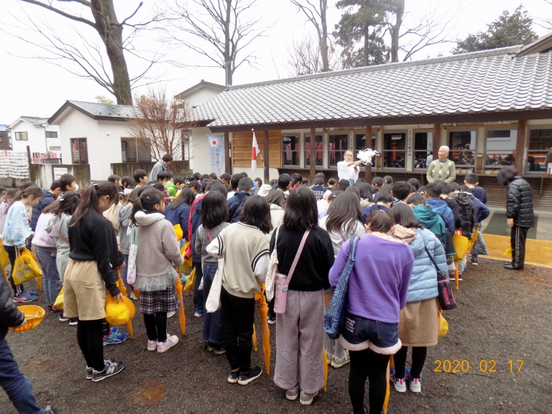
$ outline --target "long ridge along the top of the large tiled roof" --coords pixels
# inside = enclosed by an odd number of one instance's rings
[[[409,66],[424,66],[424,65],[431,65],[433,63],[477,59],[479,57],[509,55],[509,54],[515,54],[520,50],[520,48],[522,48],[522,46],[508,46],[506,48],[482,50],[480,52],[461,53],[459,55],[451,55],[451,56],[445,56],[445,57],[434,57],[432,59],[422,59],[422,60],[416,60],[416,61],[406,61],[406,62],[397,62],[397,63],[384,63],[383,65],[364,66],[362,68],[334,70],[333,72],[314,73],[312,75],[302,75],[302,76],[289,77],[284,79],[273,79],[270,81],[244,83],[242,85],[227,86],[226,90],[253,88],[256,86],[268,86],[268,85],[275,85],[278,83],[304,81],[307,79],[322,79],[326,77],[335,77],[339,75],[350,75],[353,73],[378,72],[380,70],[406,68]]]

